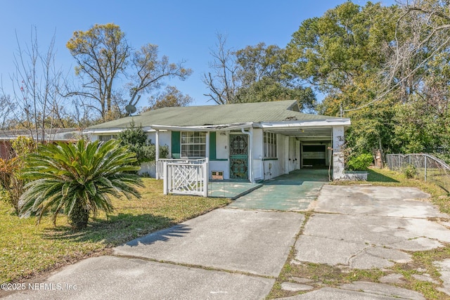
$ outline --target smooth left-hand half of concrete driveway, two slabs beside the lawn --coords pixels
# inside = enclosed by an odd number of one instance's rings
[[[303,220],[293,212],[216,209],[116,247],[113,256],[66,266],[46,278],[48,289],[10,298],[264,299]]]

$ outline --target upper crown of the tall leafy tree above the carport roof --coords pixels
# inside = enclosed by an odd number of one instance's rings
[[[320,18],[304,20],[287,46],[285,68],[328,98],[341,97],[348,108],[372,100],[384,49],[394,39],[392,14],[380,4],[361,7],[347,1]]]

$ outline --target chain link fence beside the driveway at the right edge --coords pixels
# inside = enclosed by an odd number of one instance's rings
[[[450,166],[437,157],[424,153],[388,154],[386,164],[391,170],[435,183],[450,193]]]

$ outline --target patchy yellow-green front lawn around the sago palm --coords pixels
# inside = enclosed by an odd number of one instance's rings
[[[88,228],[73,231],[65,216],[20,219],[0,201],[0,282],[18,282],[88,256],[108,253],[155,230],[173,226],[229,203],[227,199],[162,195],[162,181],[143,178],[141,199],[113,200],[115,212],[98,214]]]

